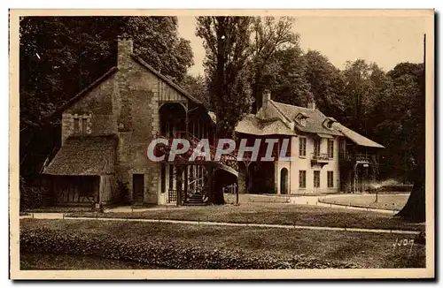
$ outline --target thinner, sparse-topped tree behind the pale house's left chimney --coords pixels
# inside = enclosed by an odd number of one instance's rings
[[[253,112],[261,107],[261,92],[268,88],[269,78],[276,73],[271,67],[271,57],[274,56],[278,49],[284,48],[285,45],[298,45],[299,34],[292,31],[294,19],[291,17],[256,17],[253,19],[253,74],[251,75],[252,93],[254,99]]]

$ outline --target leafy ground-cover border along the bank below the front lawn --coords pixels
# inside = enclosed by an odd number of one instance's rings
[[[117,239],[82,231],[46,228],[20,231],[20,252],[77,254],[107,259],[136,261],[166,269],[330,269],[358,268],[354,263],[318,261],[303,255],[278,259],[245,251],[209,249],[162,239],[141,241]]]

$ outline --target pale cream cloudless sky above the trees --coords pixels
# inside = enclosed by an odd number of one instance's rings
[[[195,19],[178,17],[181,37],[190,40],[194,52],[193,75],[203,74],[205,49],[195,35]],[[400,62],[423,62],[424,17],[297,17],[293,31],[300,47],[319,50],[339,69],[346,61],[375,62],[385,72]]]

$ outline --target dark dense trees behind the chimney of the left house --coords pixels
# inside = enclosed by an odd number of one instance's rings
[[[116,63],[115,39],[179,82],[193,64],[175,17],[25,17],[20,19],[20,128],[38,126]]]

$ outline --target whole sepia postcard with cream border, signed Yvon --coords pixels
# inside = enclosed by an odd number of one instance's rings
[[[434,277],[433,10],[10,10],[12,279]]]

